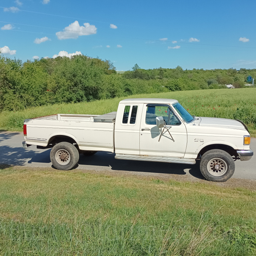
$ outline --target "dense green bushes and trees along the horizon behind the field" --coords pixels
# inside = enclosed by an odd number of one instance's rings
[[[244,87],[256,70],[140,69],[117,74],[108,60],[84,55],[26,61],[0,56],[0,111],[133,94]]]

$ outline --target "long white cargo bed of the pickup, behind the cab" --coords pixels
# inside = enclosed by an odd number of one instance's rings
[[[47,146],[55,137],[67,136],[75,140],[80,150],[114,152],[115,117],[116,112],[104,115],[55,114],[26,119],[26,142]]]

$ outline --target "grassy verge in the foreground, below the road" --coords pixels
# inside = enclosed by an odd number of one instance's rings
[[[256,191],[53,169],[0,183],[1,256],[256,253]]]

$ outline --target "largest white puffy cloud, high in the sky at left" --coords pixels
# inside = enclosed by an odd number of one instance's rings
[[[78,21],[71,23],[68,27],[65,27],[63,31],[56,33],[59,40],[78,38],[79,36],[88,36],[91,34],[96,34],[97,28],[90,23],[84,23],[84,26],[80,26]]]

